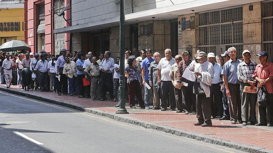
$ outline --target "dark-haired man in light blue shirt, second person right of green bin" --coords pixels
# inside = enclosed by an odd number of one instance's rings
[[[48,86],[48,72],[47,72],[47,56],[45,54],[42,54],[41,59],[37,63],[37,72],[39,75],[39,85],[40,85],[40,91],[49,91]]]

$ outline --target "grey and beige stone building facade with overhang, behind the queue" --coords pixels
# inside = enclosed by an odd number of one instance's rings
[[[73,51],[110,50],[119,56],[119,0],[72,1],[71,8],[72,26],[54,33],[71,34]],[[235,46],[238,57],[249,49],[258,62],[254,55],[264,50],[272,60],[272,16],[271,0],[125,1],[125,47],[193,55]]]

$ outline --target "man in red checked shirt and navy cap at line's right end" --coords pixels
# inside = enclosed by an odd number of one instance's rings
[[[267,62],[268,53],[262,52],[257,54],[259,56],[260,64],[256,66],[253,78],[257,80],[258,86],[266,87],[268,92],[267,98],[269,104],[264,107],[259,107],[260,122],[256,126],[273,126],[273,63]]]

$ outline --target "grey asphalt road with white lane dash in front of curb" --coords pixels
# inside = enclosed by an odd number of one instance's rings
[[[0,152],[240,151],[0,91]]]

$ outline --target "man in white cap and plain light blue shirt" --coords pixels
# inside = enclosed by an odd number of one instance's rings
[[[222,103],[222,93],[220,81],[222,78],[221,72],[222,67],[220,64],[215,63],[214,53],[208,53],[208,61],[213,64],[214,67],[214,76],[211,84],[211,119],[214,119],[216,116],[223,115],[223,103]]]

